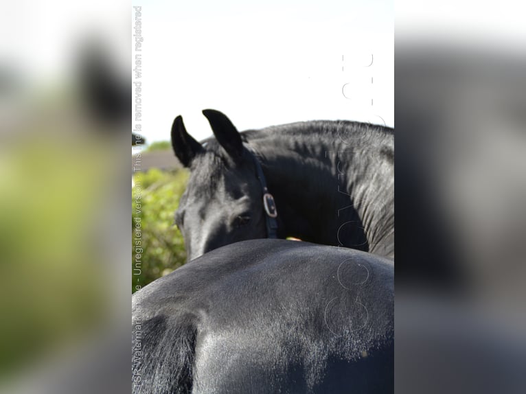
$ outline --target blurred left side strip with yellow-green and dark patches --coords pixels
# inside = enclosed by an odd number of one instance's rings
[[[2,21],[0,392],[119,392],[130,4],[22,0]]]

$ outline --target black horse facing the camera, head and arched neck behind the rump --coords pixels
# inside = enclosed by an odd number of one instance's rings
[[[289,236],[393,257],[393,129],[306,121],[240,133],[222,113],[203,114],[215,139],[198,143],[181,116],[172,126],[191,172],[175,217],[189,259]]]

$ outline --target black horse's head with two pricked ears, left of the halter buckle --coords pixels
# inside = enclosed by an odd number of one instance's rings
[[[190,170],[175,213],[189,261],[220,246],[266,237],[253,154],[224,114],[208,109],[203,115],[216,137],[203,144],[188,134],[181,116],[172,125],[174,153]]]

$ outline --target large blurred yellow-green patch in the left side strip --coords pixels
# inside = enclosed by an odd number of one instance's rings
[[[0,152],[0,379],[106,314],[99,235],[110,156],[91,135],[56,143],[45,131]]]

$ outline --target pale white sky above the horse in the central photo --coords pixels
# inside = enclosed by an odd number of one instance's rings
[[[239,130],[310,119],[394,126],[392,0],[134,5],[148,142],[170,139],[176,115],[208,137],[205,108]]]

